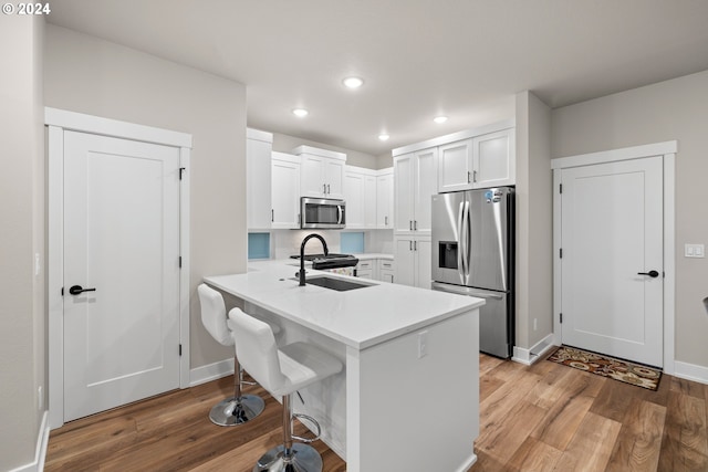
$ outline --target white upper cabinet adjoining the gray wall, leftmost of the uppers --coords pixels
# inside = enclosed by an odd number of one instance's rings
[[[272,143],[270,133],[246,130],[246,214],[249,230],[270,228]]]

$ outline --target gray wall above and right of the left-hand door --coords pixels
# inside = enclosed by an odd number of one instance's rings
[[[201,325],[196,287],[246,271],[246,87],[54,25],[45,48],[46,106],[192,135],[190,365],[229,358]]]

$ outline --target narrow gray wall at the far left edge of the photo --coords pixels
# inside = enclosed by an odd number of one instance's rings
[[[34,274],[34,254],[44,260],[43,31],[42,18],[0,17],[0,470],[34,461],[43,415],[44,274]]]

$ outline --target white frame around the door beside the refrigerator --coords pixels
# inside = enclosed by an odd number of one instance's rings
[[[620,160],[641,159],[644,157],[662,156],[664,162],[664,371],[673,375],[675,371],[675,160],[678,148],[677,141],[655,143],[643,146],[625,147],[601,153],[551,159],[553,169],[553,253],[561,249],[561,171],[571,167],[591,166],[595,164],[616,162]],[[560,345],[561,338],[561,259],[553,256],[553,343]]]

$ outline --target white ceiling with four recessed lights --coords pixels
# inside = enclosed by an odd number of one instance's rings
[[[375,156],[708,70],[705,0],[52,0],[50,23],[247,86],[248,125]],[[342,80],[364,78],[358,90]],[[295,117],[304,107],[310,114]],[[436,115],[447,123],[433,123]],[[381,141],[377,136],[391,138]]]

